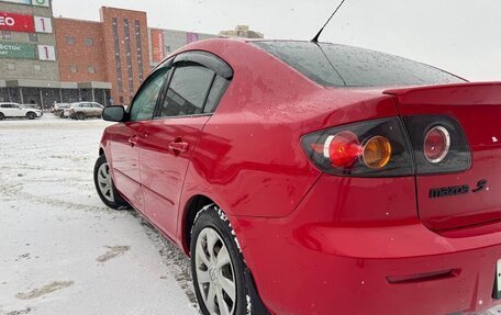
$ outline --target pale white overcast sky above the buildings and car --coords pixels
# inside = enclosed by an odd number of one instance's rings
[[[108,5],[146,11],[151,27],[218,34],[246,24],[266,38],[292,40],[311,40],[337,3],[53,0],[56,16],[97,21],[99,8]],[[470,80],[501,80],[500,0],[346,0],[321,40],[409,57]]]

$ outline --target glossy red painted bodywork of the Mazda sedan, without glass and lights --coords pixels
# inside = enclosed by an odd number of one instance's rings
[[[460,314],[498,304],[501,83],[327,88],[252,43],[211,40],[233,79],[213,115],[126,122],[101,148],[116,189],[189,255],[193,203],[224,210],[270,314]],[[458,122],[461,171],[336,176],[308,134],[388,117]],[[186,151],[169,146],[188,144]],[[430,198],[435,188],[488,184]]]

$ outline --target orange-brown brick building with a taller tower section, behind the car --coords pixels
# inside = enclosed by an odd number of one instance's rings
[[[114,104],[127,104],[148,75],[146,13],[101,8],[101,21],[55,20],[59,75],[89,82],[89,89],[111,82]]]

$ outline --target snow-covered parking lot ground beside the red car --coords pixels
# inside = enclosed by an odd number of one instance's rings
[[[0,122],[0,314],[198,314],[185,256],[94,192],[107,125]]]

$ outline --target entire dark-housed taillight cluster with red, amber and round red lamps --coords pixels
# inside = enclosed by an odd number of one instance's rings
[[[353,177],[398,177],[467,170],[471,153],[448,116],[361,122],[305,135],[301,144],[322,171]]]

